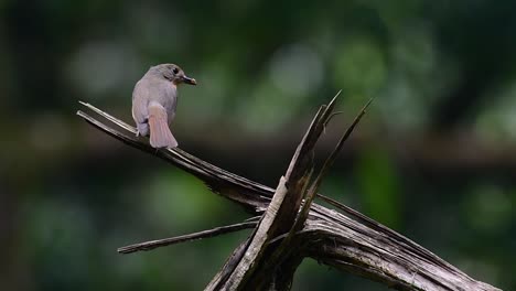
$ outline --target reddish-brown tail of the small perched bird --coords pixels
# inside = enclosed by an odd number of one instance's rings
[[[175,148],[178,141],[170,131],[166,111],[161,105],[149,106],[150,143],[152,148]]]

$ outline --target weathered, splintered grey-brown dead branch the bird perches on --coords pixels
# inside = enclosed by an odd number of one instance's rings
[[[498,290],[467,277],[410,239],[345,205],[322,195],[318,197],[340,212],[311,203],[327,166],[351,133],[350,130],[343,136],[311,183],[313,147],[331,117],[333,103],[318,112],[276,190],[206,163],[181,149],[157,151],[147,142],[82,111],[78,115],[116,139],[195,175],[214,193],[236,202],[249,213],[261,215],[255,231],[235,249],[207,290],[288,290],[304,257],[398,290]],[[136,132],[122,121],[85,106],[122,129]]]

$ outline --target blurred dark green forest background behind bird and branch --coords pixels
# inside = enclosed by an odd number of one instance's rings
[[[2,290],[200,290],[248,234],[121,256],[247,215],[75,116],[129,122],[150,65],[176,63],[181,148],[275,186],[343,89],[320,162],[372,110],[323,193],[473,278],[516,290],[516,3],[509,0],[0,0]],[[305,260],[294,290],[386,290]]]

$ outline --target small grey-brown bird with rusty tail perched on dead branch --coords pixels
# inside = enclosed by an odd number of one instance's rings
[[[175,117],[178,85],[182,83],[197,84],[194,78],[186,77],[178,65],[161,64],[149,68],[135,86],[132,118],[137,123],[137,137],[150,133],[153,148],[178,147],[169,125]]]

